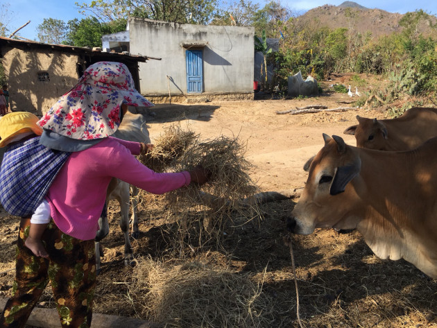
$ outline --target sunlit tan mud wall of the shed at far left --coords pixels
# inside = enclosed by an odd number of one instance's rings
[[[42,115],[77,83],[78,55],[59,51],[23,51],[8,46],[1,47],[1,55],[12,110]],[[38,79],[42,72],[49,74],[49,80]]]

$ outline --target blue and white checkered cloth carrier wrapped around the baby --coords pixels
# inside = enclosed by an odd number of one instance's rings
[[[8,147],[0,168],[0,202],[15,216],[31,216],[70,153],[40,145],[40,137]]]

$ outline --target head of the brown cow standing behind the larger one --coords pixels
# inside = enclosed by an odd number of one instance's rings
[[[357,139],[357,147],[388,150],[386,140],[388,139],[387,128],[377,119],[366,119],[357,115],[358,125],[350,126],[344,130],[345,135],[354,135]]]

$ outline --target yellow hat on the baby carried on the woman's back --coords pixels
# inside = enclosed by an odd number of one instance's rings
[[[12,112],[0,119],[0,148],[7,146],[9,140],[19,133],[31,130],[35,135],[42,135],[42,128],[37,125],[39,119],[29,112]]]

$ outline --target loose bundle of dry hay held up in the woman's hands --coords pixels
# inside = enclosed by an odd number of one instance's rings
[[[257,205],[241,202],[258,189],[248,175],[252,164],[244,158],[246,145],[238,138],[201,141],[193,132],[174,126],[157,139],[153,152],[160,171],[189,171],[201,165],[212,173],[203,186],[190,184],[166,193],[167,224],[161,229],[178,257],[211,241],[220,244],[225,229],[230,233],[235,224],[259,218]]]

